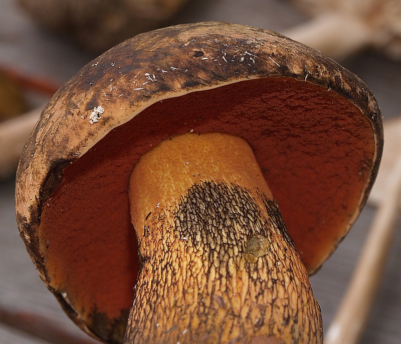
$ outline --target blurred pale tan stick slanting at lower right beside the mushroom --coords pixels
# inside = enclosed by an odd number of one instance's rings
[[[325,337],[325,344],[358,343],[380,284],[398,218],[401,194],[401,157],[387,177],[381,201],[339,310]]]

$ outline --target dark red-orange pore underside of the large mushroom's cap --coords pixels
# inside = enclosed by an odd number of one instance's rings
[[[66,291],[84,317],[112,319],[130,307],[139,269],[130,173],[158,142],[190,130],[251,144],[310,271],[345,235],[374,154],[371,124],[345,98],[307,82],[266,78],[163,100],[67,167],[44,206],[40,238],[50,285]]]

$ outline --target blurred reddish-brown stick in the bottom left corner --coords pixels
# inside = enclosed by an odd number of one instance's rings
[[[75,335],[54,319],[26,311],[16,311],[0,306],[0,323],[24,331],[36,338],[57,344],[96,344],[91,338]]]

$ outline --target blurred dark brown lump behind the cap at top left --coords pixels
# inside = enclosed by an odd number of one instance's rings
[[[18,2],[42,27],[72,38],[88,51],[103,53],[133,35],[167,25],[186,0]]]

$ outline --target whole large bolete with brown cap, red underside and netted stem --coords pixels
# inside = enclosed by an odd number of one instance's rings
[[[326,56],[248,26],[174,26],[56,93],[21,158],[17,221],[101,340],[128,320],[126,343],[321,343],[307,272],[357,218],[381,149],[374,97]]]

